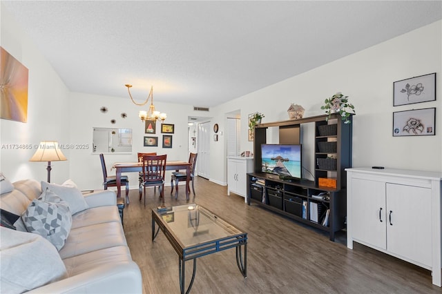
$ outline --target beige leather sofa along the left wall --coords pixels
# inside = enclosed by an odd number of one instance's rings
[[[0,195],[0,208],[21,215],[40,197],[41,184],[26,179],[13,186]],[[126,244],[115,193],[102,190],[84,200],[87,208],[72,215],[59,251],[26,227],[1,227],[1,293],[142,293],[140,268]]]

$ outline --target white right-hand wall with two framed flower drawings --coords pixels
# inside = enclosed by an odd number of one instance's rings
[[[441,26],[442,21],[436,21],[229,101],[215,111],[229,112],[240,107],[241,133],[247,134],[249,113],[264,113],[263,122],[286,120],[289,118],[287,109],[295,103],[305,108],[305,117],[321,115],[323,101],[336,92],[343,92],[356,107],[353,166],[377,165],[441,172]],[[394,81],[432,72],[436,72],[436,101],[393,106]],[[435,136],[392,137],[393,112],[430,107],[436,107]],[[249,142],[245,135],[242,136],[241,150],[253,150],[253,142]]]

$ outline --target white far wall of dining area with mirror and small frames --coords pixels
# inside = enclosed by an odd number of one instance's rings
[[[124,86],[124,85],[122,85]],[[154,89],[155,90],[155,89]],[[88,149],[71,150],[70,152],[70,177],[82,188],[97,189],[103,182],[102,167],[99,155],[93,153],[92,136],[93,127],[102,128],[131,128],[133,135],[132,154],[107,153],[104,155],[108,174],[115,175],[111,170],[114,162],[130,162],[137,160],[138,152],[156,152],[158,155],[166,154],[170,160],[189,160],[189,138],[187,116],[193,112],[193,106],[180,104],[166,104],[157,97],[155,108],[167,113],[165,124],[173,124],[173,134],[162,134],[161,123],[157,121],[156,133],[145,134],[144,123],[138,117],[139,110],[147,110],[146,107],[136,106],[129,97],[108,97],[91,95],[86,93],[72,92],[70,94],[70,143],[74,145],[89,144]],[[100,108],[105,106],[108,112],[103,113]],[[127,117],[121,117],[125,112]],[[115,124],[111,124],[115,119]],[[172,135],[173,148],[162,148],[163,135]],[[144,136],[158,137],[157,147],[144,147]],[[166,183],[170,183],[170,173],[167,172]],[[131,188],[137,188],[137,173],[128,174]]]

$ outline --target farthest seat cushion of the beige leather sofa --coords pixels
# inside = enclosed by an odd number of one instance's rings
[[[106,222],[121,222],[117,206],[99,206],[76,213],[72,216],[71,230]]]

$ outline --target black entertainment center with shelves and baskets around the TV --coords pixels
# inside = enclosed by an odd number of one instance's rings
[[[352,167],[352,124],[339,115],[325,115],[258,124],[253,143],[253,173],[247,174],[247,204],[258,204],[285,217],[329,233],[345,228],[347,177]],[[352,117],[350,117],[352,121]],[[314,144],[304,144],[304,124],[314,123]],[[302,144],[302,153],[314,155],[314,180],[281,179],[262,173],[261,144],[267,144],[267,128],[278,127],[280,144]],[[306,128],[310,130],[311,128]],[[305,146],[314,146],[305,149]],[[332,157],[332,158],[330,158]]]

